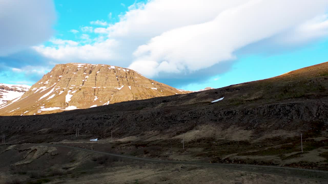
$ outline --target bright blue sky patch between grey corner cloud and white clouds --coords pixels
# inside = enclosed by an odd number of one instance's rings
[[[140,2],[140,1],[136,1]],[[55,0],[57,22],[54,25],[56,35],[54,37],[63,40],[75,40],[80,34],[69,32],[71,29],[80,30],[81,27],[92,26],[91,21],[103,20],[114,24],[119,21],[118,16],[128,10],[135,3],[134,0],[114,1],[78,1]],[[95,34],[90,34],[95,37]]]

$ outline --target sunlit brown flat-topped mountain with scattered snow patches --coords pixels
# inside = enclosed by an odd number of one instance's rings
[[[188,93],[136,71],[105,64],[57,64],[20,99],[0,106],[0,115],[49,114]]]

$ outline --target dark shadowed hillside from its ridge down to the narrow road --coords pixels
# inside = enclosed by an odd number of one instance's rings
[[[322,63],[189,94],[48,115],[3,116],[0,133],[9,143],[79,139],[83,147],[90,138],[111,140],[104,138],[113,130],[115,141],[102,149],[115,153],[328,170],[327,89],[328,63]]]

